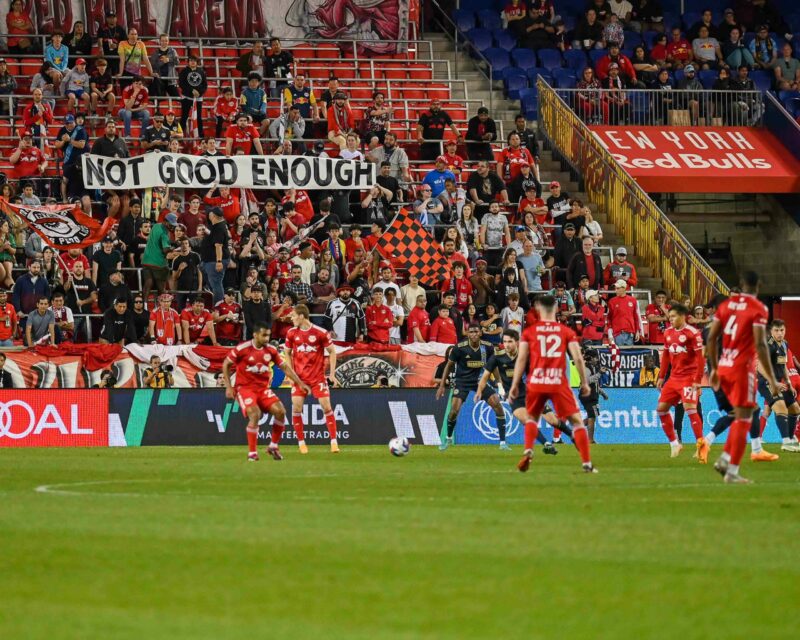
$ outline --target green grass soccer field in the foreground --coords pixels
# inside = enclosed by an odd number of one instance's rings
[[[794,636],[800,456],[560,452],[5,449],[0,638]]]

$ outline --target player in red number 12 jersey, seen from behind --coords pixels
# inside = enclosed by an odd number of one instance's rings
[[[545,404],[550,400],[556,416],[572,425],[572,439],[580,452],[583,470],[597,473],[589,454],[589,434],[567,376],[566,356],[569,353],[580,376],[580,394],[588,396],[591,393],[578,336],[566,325],[556,322],[556,300],[552,295],[539,296],[534,306],[541,319],[522,332],[514,380],[508,392],[508,398],[513,402],[519,395],[519,384],[525,373],[525,366],[529,364],[525,404],[528,411],[525,453],[517,468],[527,471],[530,467],[533,443],[539,431],[539,418]]]

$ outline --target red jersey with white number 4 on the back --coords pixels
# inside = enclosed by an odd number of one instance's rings
[[[753,327],[767,326],[767,308],[753,295],[737,293],[723,302],[714,322],[722,325],[722,354],[719,370],[753,371],[756,343]]]

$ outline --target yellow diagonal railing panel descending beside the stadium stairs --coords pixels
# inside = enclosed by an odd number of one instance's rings
[[[728,286],[650,196],[603,147],[569,105],[538,79],[539,128],[554,151],[583,176],[588,200],[608,215],[625,244],[672,295],[705,302]]]

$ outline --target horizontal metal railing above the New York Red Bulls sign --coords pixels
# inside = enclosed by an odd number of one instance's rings
[[[760,91],[686,89],[553,89],[586,124],[756,127],[764,117]]]

